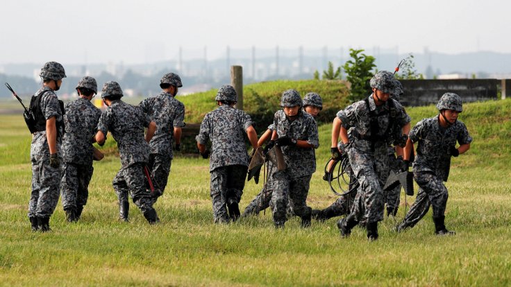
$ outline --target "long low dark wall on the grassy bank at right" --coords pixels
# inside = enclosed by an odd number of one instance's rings
[[[457,79],[457,80],[401,80],[405,94],[401,103],[405,106],[436,104],[446,92],[461,96],[467,102],[497,99],[496,79]],[[509,88],[508,88],[509,89]],[[508,94],[508,97],[511,94]]]

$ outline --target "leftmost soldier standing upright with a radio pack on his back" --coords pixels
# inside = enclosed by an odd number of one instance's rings
[[[49,220],[60,193],[60,143],[64,110],[55,91],[60,89],[66,73],[58,62],[47,62],[39,76],[43,87],[35,92],[30,103],[37,132],[33,134],[30,150],[32,193],[28,218],[33,231],[47,232],[51,230]]]

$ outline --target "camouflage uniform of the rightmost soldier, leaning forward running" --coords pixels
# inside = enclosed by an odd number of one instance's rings
[[[449,177],[451,150],[456,141],[460,144],[471,143],[467,127],[456,121],[448,128],[439,125],[439,116],[423,119],[412,128],[410,139],[419,141],[417,155],[413,163],[414,180],[419,185],[417,198],[403,220],[403,228],[413,227],[433,206],[433,218],[444,217],[447,192],[444,182]]]

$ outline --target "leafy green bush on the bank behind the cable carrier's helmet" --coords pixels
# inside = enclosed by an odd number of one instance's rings
[[[350,101],[358,101],[367,96],[371,91],[369,80],[374,76],[372,69],[376,67],[371,55],[362,53],[364,50],[349,49],[351,59],[346,61],[343,68],[346,71],[346,79],[351,83],[349,99]]]

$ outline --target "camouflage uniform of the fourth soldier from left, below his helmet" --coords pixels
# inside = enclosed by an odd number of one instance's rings
[[[149,141],[151,154],[149,155],[148,167],[155,183],[157,196],[165,191],[169,178],[174,142],[174,128],[183,128],[185,123],[185,105],[176,100],[169,93],[162,92],[156,97],[146,98],[140,103],[140,107],[156,122],[156,132]],[[156,201],[157,197],[154,197]]]

